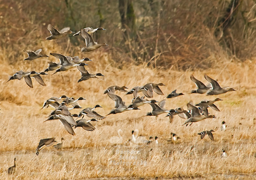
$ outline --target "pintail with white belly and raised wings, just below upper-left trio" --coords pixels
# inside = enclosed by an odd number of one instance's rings
[[[64,55],[58,54],[58,53],[50,53],[50,55],[53,55],[54,57],[56,57],[56,58],[58,58],[60,60],[61,66],[60,66],[59,69],[57,69],[55,71],[55,73],[56,72],[60,72],[60,71],[67,71],[67,70],[69,70],[69,69],[71,69],[73,67],[77,67],[77,69],[79,71],[82,71],[83,73],[86,73],[84,66],[88,65],[88,64],[85,64],[85,63],[74,64],[74,63],[72,63],[72,57],[64,56]],[[55,73],[53,73],[53,75]]]

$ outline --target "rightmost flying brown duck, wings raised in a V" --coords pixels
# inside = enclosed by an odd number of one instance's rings
[[[229,87],[224,87],[222,88],[217,81],[215,81],[214,79],[211,79],[208,75],[204,74],[204,78],[211,83],[212,86],[212,90],[209,90],[207,92],[207,96],[208,95],[218,95],[218,94],[224,94],[228,91],[236,91],[233,88],[229,88]]]

